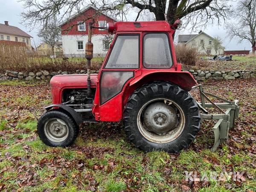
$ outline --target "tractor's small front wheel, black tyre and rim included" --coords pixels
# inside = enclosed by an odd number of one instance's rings
[[[46,145],[66,147],[76,139],[79,127],[66,113],[52,110],[38,120],[37,131]]]

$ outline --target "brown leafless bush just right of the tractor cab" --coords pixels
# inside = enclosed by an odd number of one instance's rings
[[[196,47],[175,45],[175,54],[178,63],[195,66],[198,61],[199,52]]]

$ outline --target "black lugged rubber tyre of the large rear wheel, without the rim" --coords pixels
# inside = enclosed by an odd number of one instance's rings
[[[182,105],[188,106],[187,116],[189,116],[189,119],[191,119],[191,123],[188,126],[190,128],[189,133],[186,133],[186,136],[184,136],[185,138],[180,138],[179,142],[176,141],[172,144],[173,141],[177,140],[175,139],[170,142],[168,147],[163,146],[159,148],[153,146],[152,142],[146,140],[140,134],[140,131],[137,128],[137,124],[134,124],[134,122],[137,122],[137,108],[138,106],[142,105],[141,103],[145,103],[145,100],[152,98],[152,96],[155,98],[156,96],[169,96],[173,93],[175,94],[175,97],[183,100]],[[136,120],[134,119],[135,117]],[[134,93],[131,94],[125,105],[123,121],[128,139],[134,143],[135,147],[140,148],[143,151],[163,150],[167,152],[178,152],[182,148],[189,147],[189,144],[195,139],[195,136],[200,128],[200,113],[197,103],[187,91],[168,81],[154,81],[148,84],[144,84],[142,87],[139,87],[134,91]]]

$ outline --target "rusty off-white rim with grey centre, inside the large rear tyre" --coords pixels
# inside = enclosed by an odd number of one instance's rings
[[[152,99],[140,108],[137,125],[147,140],[169,143],[182,133],[185,115],[180,106],[170,99]]]

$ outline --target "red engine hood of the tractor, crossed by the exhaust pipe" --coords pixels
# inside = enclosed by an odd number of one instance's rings
[[[97,85],[98,74],[91,74],[91,87],[95,88]],[[87,74],[73,74],[73,75],[57,75],[53,76],[50,81],[51,87],[87,87]]]

